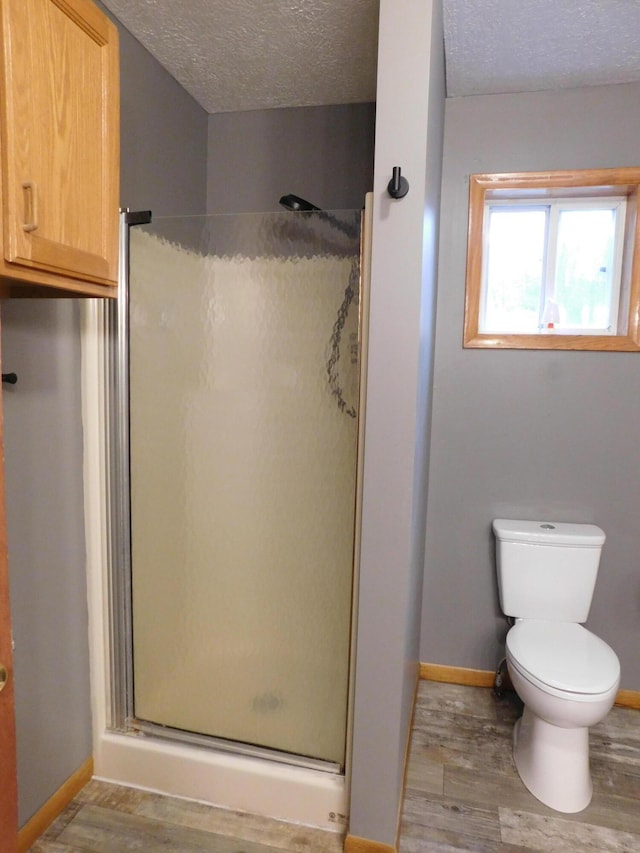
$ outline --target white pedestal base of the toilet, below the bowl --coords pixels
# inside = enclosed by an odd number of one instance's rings
[[[582,811],[591,802],[589,729],[563,729],[525,705],[513,730],[513,758],[536,799],[559,812]]]

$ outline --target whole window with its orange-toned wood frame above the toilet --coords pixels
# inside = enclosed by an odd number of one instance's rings
[[[472,175],[465,347],[640,350],[640,169]]]

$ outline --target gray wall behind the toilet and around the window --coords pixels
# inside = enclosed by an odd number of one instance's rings
[[[421,660],[493,669],[491,519],[607,534],[588,627],[640,689],[640,354],[462,348],[468,175],[640,164],[640,85],[446,105]]]

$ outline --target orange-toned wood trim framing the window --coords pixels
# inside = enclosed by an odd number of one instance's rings
[[[615,335],[589,334],[503,334],[479,331],[482,298],[483,237],[485,202],[491,199],[593,198],[626,196],[628,235],[626,252],[631,262],[628,274],[626,331]],[[640,351],[640,168],[587,169],[558,172],[509,172],[469,176],[469,224],[464,310],[465,348],[560,349],[602,352]],[[631,203],[629,203],[631,202]],[[629,227],[629,226],[628,226]],[[627,242],[627,236],[625,236]],[[621,293],[625,283],[621,283]]]

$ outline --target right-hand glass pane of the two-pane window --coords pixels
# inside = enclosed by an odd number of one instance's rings
[[[560,327],[610,325],[615,220],[611,208],[560,212],[555,286]]]

